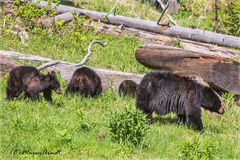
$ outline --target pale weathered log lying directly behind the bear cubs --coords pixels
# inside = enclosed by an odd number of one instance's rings
[[[15,57],[18,59],[23,60],[30,60],[35,62],[55,62],[55,60],[52,60],[50,58],[40,57],[40,56],[34,56],[30,54],[22,54],[15,51],[1,51],[0,55],[4,55],[6,57]],[[47,68],[47,70],[55,70],[60,72],[61,77],[69,81],[73,75],[73,72],[78,68],[76,67],[75,63],[65,62],[65,61],[57,61],[59,62],[57,65],[50,66]],[[140,80],[142,79],[143,75],[141,74],[134,74],[134,73],[128,73],[128,72],[119,72],[119,71],[113,71],[109,69],[103,69],[98,67],[89,67],[92,68],[94,71],[97,72],[97,74],[100,76],[103,86],[103,91],[107,90],[109,87],[113,86],[116,90],[118,90],[118,87],[120,83],[126,79],[130,79],[135,81],[136,83],[140,83]]]

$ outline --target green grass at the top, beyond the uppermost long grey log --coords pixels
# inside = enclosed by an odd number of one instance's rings
[[[141,3],[140,0],[122,0],[117,5],[117,15],[129,16],[141,19],[157,21],[160,17],[160,11],[150,3]],[[103,5],[104,4],[104,5]],[[79,7],[96,10],[99,12],[109,12],[115,1],[110,0],[77,0],[76,5]],[[203,15],[205,15],[204,13]],[[185,27],[200,28],[204,30],[213,30],[213,15],[199,16],[180,10],[176,15],[172,15],[178,25]],[[163,20],[166,17],[163,18]]]

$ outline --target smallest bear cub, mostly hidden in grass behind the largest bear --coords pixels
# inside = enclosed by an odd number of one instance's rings
[[[135,97],[137,92],[138,84],[133,80],[124,80],[118,89],[120,96],[131,96]]]

